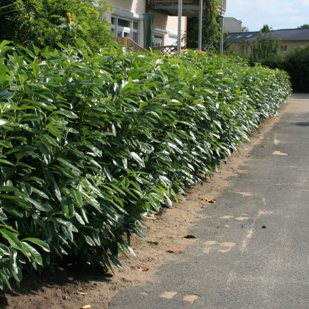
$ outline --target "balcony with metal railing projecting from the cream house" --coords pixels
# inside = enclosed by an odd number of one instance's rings
[[[226,0],[219,0],[218,12],[224,15]],[[169,16],[178,16],[178,1],[175,0],[149,0],[149,9]],[[183,0],[182,16],[198,16],[199,0]]]

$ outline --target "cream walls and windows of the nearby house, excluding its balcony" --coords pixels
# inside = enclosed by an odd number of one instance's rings
[[[116,37],[129,37],[144,46],[143,17],[149,9],[148,0],[107,0],[113,4],[112,13],[105,14]],[[181,32],[186,30],[186,17],[182,17]],[[178,35],[178,17],[155,11],[152,46],[175,45]]]

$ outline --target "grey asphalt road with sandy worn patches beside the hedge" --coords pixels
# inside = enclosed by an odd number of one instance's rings
[[[309,308],[309,94],[267,137],[189,231],[199,241],[108,308]]]

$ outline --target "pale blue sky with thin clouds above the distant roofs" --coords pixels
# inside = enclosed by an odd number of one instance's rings
[[[249,31],[260,31],[264,24],[273,30],[309,24],[309,0],[227,0],[225,17],[242,21]]]

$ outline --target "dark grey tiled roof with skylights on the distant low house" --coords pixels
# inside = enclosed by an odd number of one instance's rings
[[[259,31],[233,32],[226,37],[226,41],[229,43],[256,41],[259,33]],[[271,34],[281,41],[309,41],[309,28],[271,30]]]

